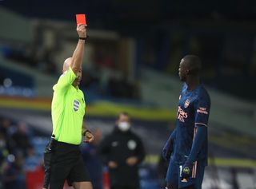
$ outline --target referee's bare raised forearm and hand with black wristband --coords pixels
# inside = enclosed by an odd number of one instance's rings
[[[79,36],[78,45],[74,50],[72,60],[70,63],[70,67],[73,70],[75,75],[78,74],[79,70],[82,67],[82,60],[83,60],[84,49],[85,49],[85,40],[87,37],[86,26],[83,24],[78,24],[77,32]]]

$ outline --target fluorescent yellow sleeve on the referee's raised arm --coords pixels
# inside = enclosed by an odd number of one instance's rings
[[[54,91],[56,90],[66,90],[70,85],[73,84],[77,76],[74,74],[71,67],[65,73],[63,73],[59,78],[56,85],[54,85]]]

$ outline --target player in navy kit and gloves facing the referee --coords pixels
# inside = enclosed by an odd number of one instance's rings
[[[208,159],[207,124],[210,96],[200,83],[201,61],[183,57],[178,75],[184,82],[179,96],[176,128],[162,150],[170,159],[166,173],[167,189],[201,189]]]

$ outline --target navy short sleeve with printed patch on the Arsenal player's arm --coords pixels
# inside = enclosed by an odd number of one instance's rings
[[[210,96],[208,93],[200,93],[195,104],[195,125],[204,125],[207,127],[210,114]]]

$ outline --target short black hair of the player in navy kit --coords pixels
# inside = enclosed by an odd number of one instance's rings
[[[202,63],[198,56],[196,55],[186,55],[183,57],[189,69],[190,74],[198,75],[202,69]]]

